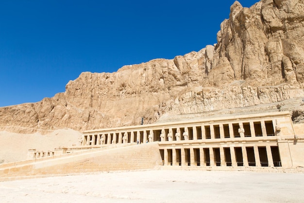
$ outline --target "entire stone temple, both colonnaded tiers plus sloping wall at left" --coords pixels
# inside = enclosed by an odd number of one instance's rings
[[[304,172],[302,132],[288,111],[87,130],[79,146],[0,165],[0,181],[159,167]]]

